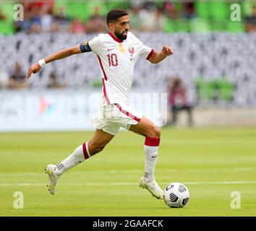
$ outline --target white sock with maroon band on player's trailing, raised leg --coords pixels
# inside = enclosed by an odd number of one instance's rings
[[[88,142],[81,144],[79,147],[74,149],[74,152],[70,154],[65,160],[61,161],[58,165],[56,165],[56,173],[61,175],[65,171],[69,170],[81,162],[84,162],[85,159],[90,157],[90,153],[88,150]]]

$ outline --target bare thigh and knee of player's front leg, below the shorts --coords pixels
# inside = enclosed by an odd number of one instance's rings
[[[145,116],[142,116],[140,122],[136,125],[131,125],[129,131],[146,137],[160,138],[161,136],[161,131],[158,126]]]

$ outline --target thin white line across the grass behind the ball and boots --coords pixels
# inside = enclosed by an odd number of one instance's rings
[[[161,183],[168,185],[171,182]],[[185,185],[212,185],[212,184],[256,184],[256,181],[202,181],[182,182]],[[46,186],[47,183],[0,183],[0,186]],[[59,183],[60,186],[137,186],[138,183]]]

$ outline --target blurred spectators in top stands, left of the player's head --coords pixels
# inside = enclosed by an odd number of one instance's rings
[[[25,20],[15,22],[16,32],[39,33],[39,32],[106,32],[106,20],[101,14],[101,8],[95,6],[88,20],[74,14],[67,15],[64,6],[54,7],[54,0],[33,1],[23,3]]]

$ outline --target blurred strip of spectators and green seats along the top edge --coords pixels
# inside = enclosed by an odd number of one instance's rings
[[[241,1],[243,22],[231,23],[230,1],[82,1],[21,0],[24,20],[12,22],[13,32],[106,32],[106,13],[113,8],[129,12],[132,30],[140,32],[255,31],[256,3]],[[12,3],[12,4],[13,4]],[[0,4],[0,22],[12,4]],[[2,8],[2,9],[1,9]],[[12,12],[11,12],[12,14]],[[8,21],[8,20],[7,20]],[[1,27],[1,23],[0,23]],[[1,29],[0,29],[1,34]]]

